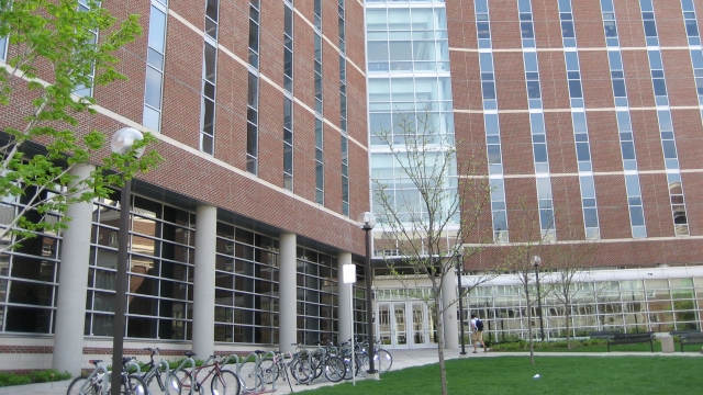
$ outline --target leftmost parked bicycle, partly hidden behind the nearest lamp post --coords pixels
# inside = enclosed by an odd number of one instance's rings
[[[148,390],[141,376],[129,374],[127,369],[133,361],[132,358],[122,358],[122,388],[121,394],[124,395],[147,395]],[[68,385],[66,395],[108,395],[110,394],[111,372],[108,368],[98,365],[102,360],[90,360],[96,369],[87,377],[76,377]],[[132,362],[134,363],[134,362]],[[137,365],[138,368],[138,365]]]

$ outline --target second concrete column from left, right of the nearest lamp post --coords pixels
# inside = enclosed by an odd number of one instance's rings
[[[193,352],[207,360],[215,342],[215,251],[217,207],[196,208],[196,278],[193,279]]]

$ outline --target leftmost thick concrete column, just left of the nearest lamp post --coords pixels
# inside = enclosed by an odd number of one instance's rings
[[[91,165],[76,166],[72,185],[87,179],[96,169]],[[56,329],[52,366],[80,376],[83,357],[83,330],[86,325],[86,285],[90,260],[90,228],[92,203],[75,203],[68,206],[66,217],[71,221],[63,232],[59,285],[56,296]]]

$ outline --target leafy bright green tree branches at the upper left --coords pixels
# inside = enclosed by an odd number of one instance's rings
[[[125,79],[115,70],[115,53],[141,34],[137,20],[130,15],[118,25],[94,0],[0,0],[0,37],[8,43],[0,104],[16,114],[0,124],[0,253],[36,232],[66,228],[68,205],[107,196],[108,185],[122,185],[160,160],[154,150],[134,155],[153,136],[130,153],[109,155],[105,136],[81,126],[94,114],[92,89]],[[96,170],[76,184],[69,172],[81,163]]]

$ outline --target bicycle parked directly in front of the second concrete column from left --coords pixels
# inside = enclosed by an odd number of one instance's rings
[[[191,357],[196,354],[193,352],[186,352],[186,356],[192,361]],[[192,391],[201,395],[204,394],[203,383],[212,375],[212,381],[210,382],[210,393],[212,395],[239,394],[239,376],[231,370],[220,369],[220,356],[210,356],[201,366],[193,368],[190,372],[182,369],[183,364],[188,362],[188,359],[183,361],[180,366],[176,368],[174,372],[180,382],[181,388],[187,393],[190,393],[192,388]],[[212,364],[208,364],[210,361],[213,361]],[[210,369],[208,375],[202,380],[198,380],[198,373],[211,366],[212,369]]]

